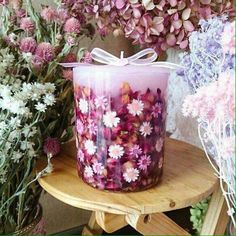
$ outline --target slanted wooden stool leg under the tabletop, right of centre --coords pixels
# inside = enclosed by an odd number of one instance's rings
[[[163,213],[127,215],[126,221],[143,235],[190,235]]]

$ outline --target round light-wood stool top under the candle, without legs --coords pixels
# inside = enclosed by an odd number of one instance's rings
[[[151,214],[180,209],[209,196],[217,187],[217,177],[204,152],[184,142],[166,140],[161,182],[142,192],[112,193],[84,183],[76,171],[75,143],[66,144],[53,158],[54,171],[39,179],[52,196],[71,206],[114,214]],[[45,166],[38,163],[38,169]]]

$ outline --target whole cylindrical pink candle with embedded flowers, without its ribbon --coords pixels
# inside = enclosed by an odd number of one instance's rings
[[[73,69],[77,167],[89,185],[138,191],[162,174],[169,69],[81,65]]]

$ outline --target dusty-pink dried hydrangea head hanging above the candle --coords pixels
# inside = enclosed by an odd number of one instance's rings
[[[124,33],[141,46],[157,52],[169,47],[185,49],[188,37],[201,18],[232,14],[232,1],[217,0],[91,0],[88,13],[97,19],[101,35],[111,29],[115,35]]]

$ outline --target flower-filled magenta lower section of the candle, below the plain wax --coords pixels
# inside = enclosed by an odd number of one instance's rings
[[[123,83],[119,96],[75,87],[77,167],[89,185],[137,191],[162,174],[166,108],[160,89]]]

